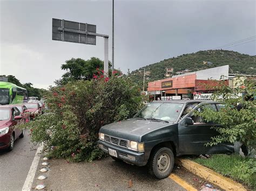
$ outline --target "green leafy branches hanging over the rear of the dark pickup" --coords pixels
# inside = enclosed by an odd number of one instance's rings
[[[256,95],[255,80],[247,79],[239,82],[241,85],[232,89],[224,83],[217,81],[217,89],[213,93],[213,100],[223,103],[220,111],[205,109],[203,112],[196,112],[196,115],[203,117],[207,122],[221,124],[215,127],[219,132],[218,136],[212,137],[213,142],[209,145],[236,141],[248,147],[256,146]],[[238,96],[245,94],[244,97]]]

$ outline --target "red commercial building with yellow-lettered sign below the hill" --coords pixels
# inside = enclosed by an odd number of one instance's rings
[[[244,80],[244,75],[238,79],[234,74],[229,74],[229,66],[220,66],[210,69],[199,70],[170,78],[149,82],[147,94],[152,100],[174,100],[174,99],[210,99],[211,93],[217,82],[213,80],[223,80],[225,84],[234,88],[239,86],[238,81]]]

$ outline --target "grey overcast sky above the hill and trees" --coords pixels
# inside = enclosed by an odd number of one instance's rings
[[[256,35],[255,1],[115,0],[115,67],[123,73],[184,53],[232,43]],[[104,59],[97,45],[51,40],[52,18],[97,25],[108,34],[111,60],[112,1],[0,0],[0,75],[47,88],[64,73],[71,58]],[[229,48],[255,55],[256,41]]]

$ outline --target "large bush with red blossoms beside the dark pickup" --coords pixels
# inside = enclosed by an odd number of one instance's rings
[[[102,157],[97,146],[103,125],[132,117],[142,108],[140,89],[123,77],[104,77],[52,87],[45,96],[48,112],[27,123],[31,139],[44,143],[50,157],[91,161]]]

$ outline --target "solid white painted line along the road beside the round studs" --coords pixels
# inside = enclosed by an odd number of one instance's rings
[[[34,159],[32,161],[30,169],[29,169],[29,173],[26,176],[26,180],[25,180],[24,185],[22,187],[22,191],[29,191],[29,190],[31,190],[32,183],[33,183],[33,180],[34,180],[35,175],[36,175],[37,165],[38,165],[39,159],[41,157],[41,152],[43,151],[43,147],[44,146],[41,145],[41,146],[39,146],[37,148],[35,157],[34,157]]]

